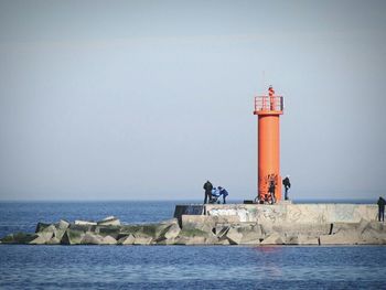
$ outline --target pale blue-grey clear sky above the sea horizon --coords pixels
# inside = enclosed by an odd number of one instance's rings
[[[0,0],[0,200],[251,200],[269,85],[291,198],[385,196],[385,1]]]

